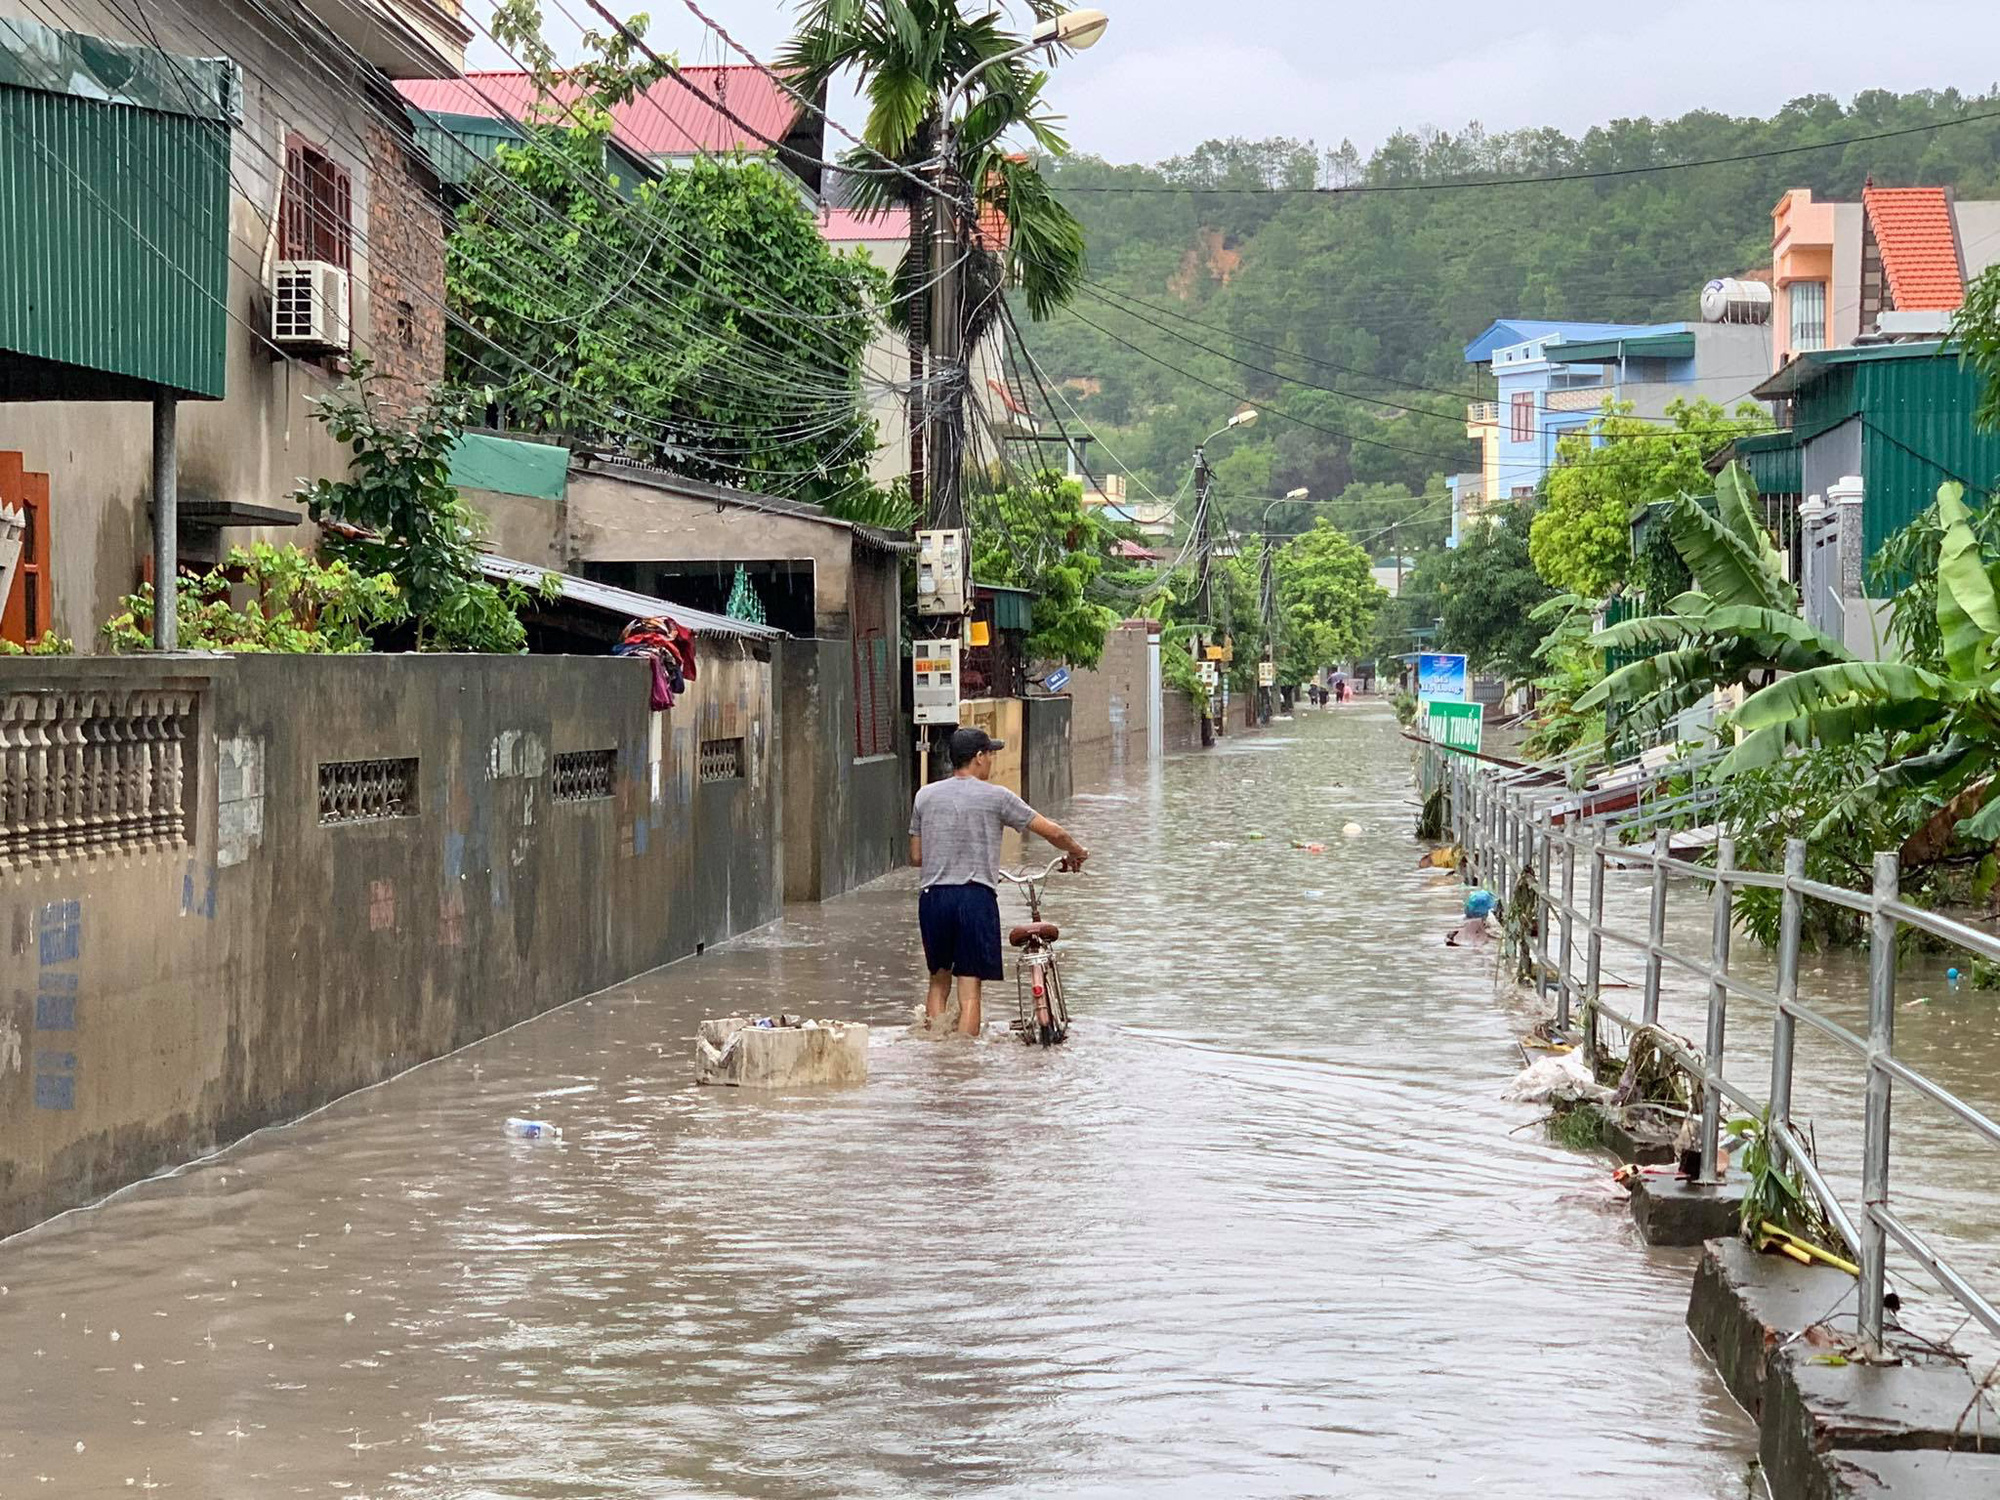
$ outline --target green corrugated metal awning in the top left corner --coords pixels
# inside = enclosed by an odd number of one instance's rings
[[[222,396],[242,76],[0,16],[0,400]]]

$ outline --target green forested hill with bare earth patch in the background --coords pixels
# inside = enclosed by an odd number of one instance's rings
[[[1906,134],[1800,150],[1884,132]],[[1646,170],[1710,158],[1748,160]],[[1468,184],[1494,176],[1572,180]],[[1816,96],[1770,120],[1692,112],[1580,140],[1420,130],[1368,160],[1294,140],[1212,142],[1158,166],[1078,156],[1054,182],[1086,226],[1090,280],[1074,312],[1022,326],[1062,394],[1162,496],[1194,442],[1250,398],[1264,418],[1214,448],[1220,490],[1334,496],[1366,482],[1366,502],[1322,512],[1360,532],[1466,466],[1464,400],[1486,388],[1460,350],[1494,318],[1694,316],[1706,280],[1770,264],[1786,188],[1856,198],[1868,176],[2000,196],[2000,90]],[[1116,466],[1094,452],[1092,470]]]

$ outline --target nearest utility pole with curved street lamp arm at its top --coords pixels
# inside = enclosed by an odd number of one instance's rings
[[[1050,16],[1036,24],[1028,42],[1006,52],[996,52],[968,68],[952,84],[944,96],[944,106],[938,110],[940,146],[938,158],[932,164],[938,202],[930,206],[930,270],[936,282],[930,296],[932,380],[926,382],[922,392],[924,410],[930,414],[930,484],[926,498],[930,502],[930,526],[934,528],[960,530],[966,524],[960,466],[964,462],[964,402],[970,388],[970,374],[964,368],[964,350],[960,350],[964,318],[960,308],[962,280],[958,276],[958,216],[964,212],[970,224],[978,226],[978,194],[970,194],[970,202],[964,202],[968,194],[966,184],[958,180],[958,122],[952,116],[974,80],[988,68],[1014,62],[1042,48],[1082,52],[1088,46],[1096,46],[1106,26],[1110,26],[1110,18],[1102,10],[1064,10],[1060,16]],[[934,388],[940,376],[946,384],[944,392]],[[912,400],[918,400],[916,392],[912,392]]]

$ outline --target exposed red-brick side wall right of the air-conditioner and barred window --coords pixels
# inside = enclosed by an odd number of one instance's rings
[[[444,234],[438,180],[408,134],[380,120],[368,140],[368,354],[376,400],[412,410],[444,380]]]

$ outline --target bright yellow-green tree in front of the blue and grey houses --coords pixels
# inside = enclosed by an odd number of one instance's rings
[[[1528,538],[1536,572],[1556,592],[1608,594],[1630,574],[1638,510],[1676,494],[1704,494],[1704,460],[1770,426],[1754,402],[1730,416],[1710,400],[1676,400],[1666,414],[1672,428],[1632,416],[1632,404],[1622,402],[1556,442],[1558,466],[1544,482],[1546,500]]]

